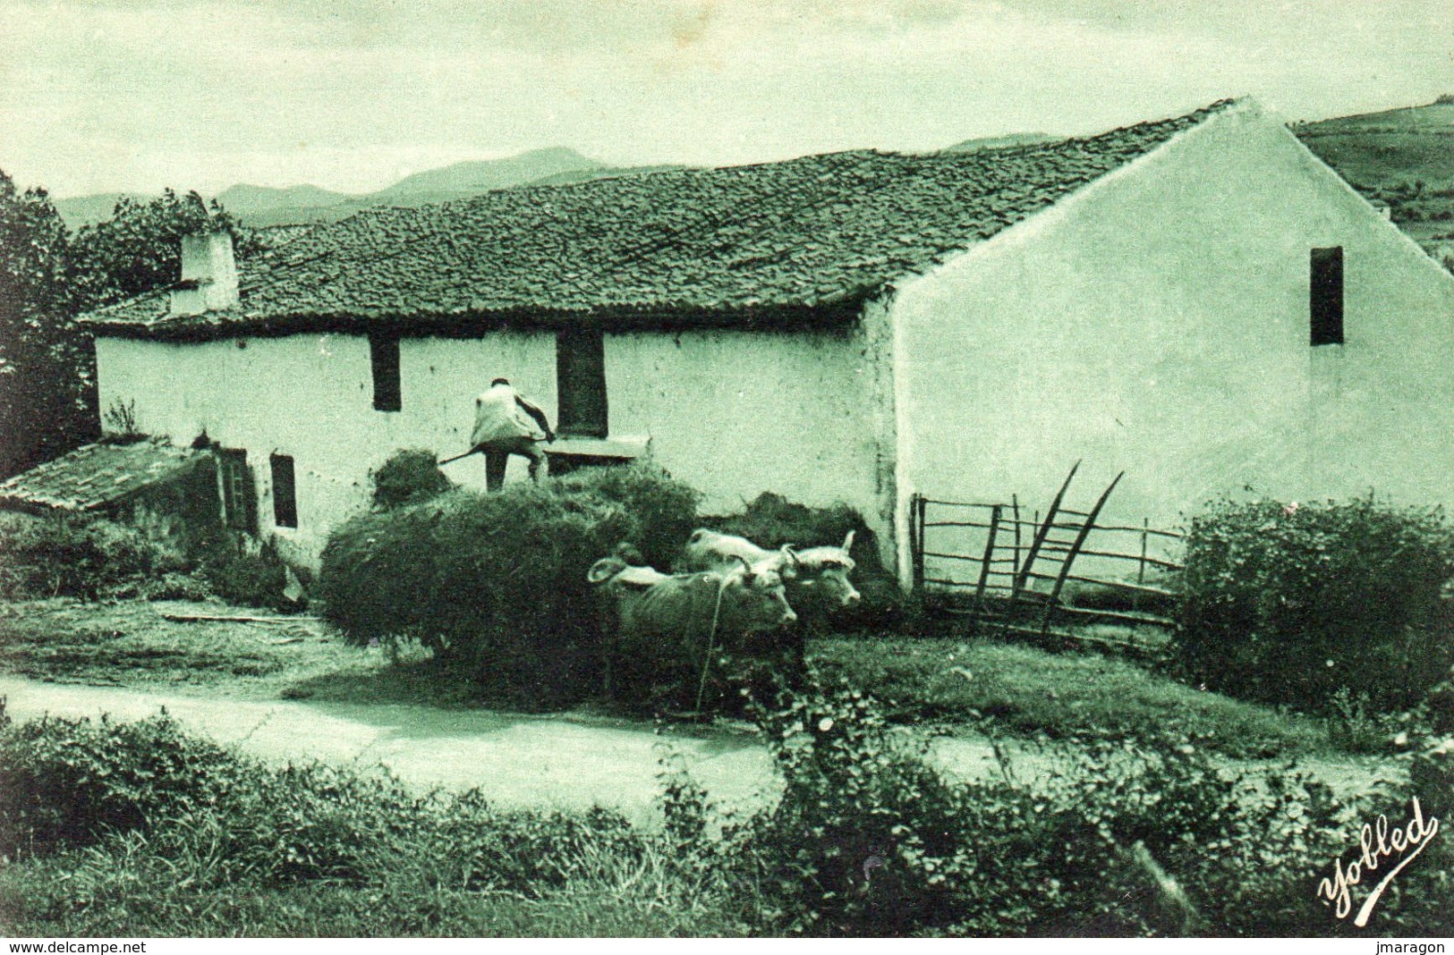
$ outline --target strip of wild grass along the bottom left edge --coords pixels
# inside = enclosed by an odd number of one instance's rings
[[[685,877],[660,849],[531,897],[414,881],[286,888],[215,884],[198,859],[140,836],[0,869],[0,933],[252,938],[662,938],[747,932],[710,877]]]

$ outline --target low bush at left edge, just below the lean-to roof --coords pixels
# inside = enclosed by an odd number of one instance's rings
[[[71,515],[0,515],[0,595],[7,599],[145,595],[183,555],[137,528]]]

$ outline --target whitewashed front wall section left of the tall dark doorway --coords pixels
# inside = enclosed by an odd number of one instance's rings
[[[227,339],[173,344],[100,337],[100,407],[135,401],[137,424],[173,443],[201,432],[243,448],[257,480],[257,517],[302,560],[327,531],[368,506],[369,471],[398,448],[439,456],[467,448],[474,395],[496,375],[554,404],[553,336],[499,333],[487,339],[404,339],[403,410],[375,411],[368,339],[343,334]],[[294,458],[298,528],[273,528],[269,455]],[[484,485],[477,455],[448,465],[461,483]],[[523,462],[512,461],[512,477]]]

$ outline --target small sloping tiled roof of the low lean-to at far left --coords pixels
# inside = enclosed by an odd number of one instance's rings
[[[0,507],[102,510],[144,487],[182,475],[204,456],[153,439],[86,445],[0,483]]]

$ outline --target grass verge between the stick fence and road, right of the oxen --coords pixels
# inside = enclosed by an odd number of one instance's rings
[[[893,701],[899,720],[968,722],[993,717],[1009,734],[1053,740],[1200,737],[1232,757],[1328,750],[1319,721],[1210,693],[1098,653],[1045,653],[989,640],[822,640],[808,656]]]

